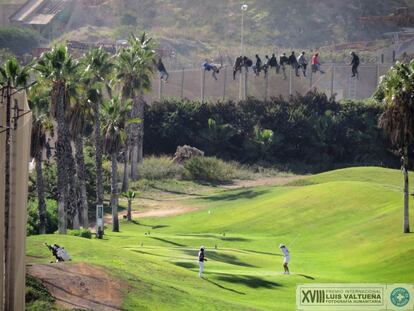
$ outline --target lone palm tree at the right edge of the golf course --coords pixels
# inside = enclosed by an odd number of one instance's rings
[[[410,232],[408,147],[414,141],[414,60],[410,64],[397,63],[382,79],[377,99],[386,104],[379,125],[390,136],[401,156],[404,173],[403,231]]]

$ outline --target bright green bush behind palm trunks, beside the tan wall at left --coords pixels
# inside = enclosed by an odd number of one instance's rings
[[[57,202],[46,200],[46,233],[54,233],[58,228]],[[27,204],[27,235],[39,234],[39,208],[37,200]]]

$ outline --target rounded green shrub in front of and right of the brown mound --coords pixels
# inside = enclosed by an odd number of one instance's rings
[[[240,178],[238,168],[214,157],[194,157],[184,164],[184,175],[188,179],[212,183],[229,182]]]

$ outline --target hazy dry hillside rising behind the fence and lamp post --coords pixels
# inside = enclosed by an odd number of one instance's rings
[[[367,26],[365,15],[388,15],[406,0],[249,0],[245,13],[246,45],[254,47],[309,47],[381,38],[395,30],[387,25]],[[239,50],[241,1],[236,0],[121,0],[110,1],[88,16],[78,11],[71,28],[97,26],[90,35],[123,37],[133,29],[149,31],[183,56],[234,54]],[[104,7],[111,7],[105,9]],[[91,15],[97,16],[92,17]],[[111,28],[107,28],[111,27]],[[87,35],[86,31],[83,35]],[[79,32],[69,37],[76,39]],[[107,37],[106,37],[107,39]]]

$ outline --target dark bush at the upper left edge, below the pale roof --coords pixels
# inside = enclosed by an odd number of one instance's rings
[[[7,48],[15,54],[29,53],[39,44],[39,34],[22,27],[0,27],[0,49]]]

